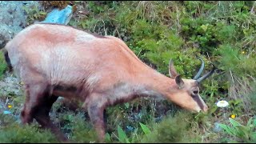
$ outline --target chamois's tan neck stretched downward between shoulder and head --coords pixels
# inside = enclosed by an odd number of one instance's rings
[[[109,95],[106,101],[108,105],[129,102],[138,97],[172,99],[171,93],[176,89],[174,80],[153,69],[137,73],[128,79],[129,82],[118,82],[113,88],[105,91],[106,95]]]

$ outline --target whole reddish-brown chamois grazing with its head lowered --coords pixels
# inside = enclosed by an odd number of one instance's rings
[[[194,112],[208,109],[198,85],[215,67],[199,78],[203,61],[194,79],[182,79],[170,60],[168,78],[143,63],[119,38],[50,23],[26,27],[5,48],[10,70],[24,83],[22,123],[35,118],[62,140],[66,137],[49,116],[59,96],[83,102],[100,142],[106,129],[103,111],[120,102],[157,97]]]

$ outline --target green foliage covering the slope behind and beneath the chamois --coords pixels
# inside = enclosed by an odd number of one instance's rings
[[[170,58],[182,78],[193,78],[196,74],[201,65],[196,56],[206,62],[204,73],[211,69],[210,62],[218,67],[200,87],[202,98],[210,106],[207,114],[190,114],[166,101],[137,99],[107,110],[106,142],[248,142],[248,138],[236,137],[225,130],[214,131],[214,122],[230,125],[231,114],[244,125],[250,118],[255,119],[254,1],[70,3],[75,7],[70,26],[121,38],[138,58],[162,74],[168,75]],[[25,10],[29,14],[28,24],[47,12],[37,8]],[[1,62],[0,58],[0,76],[4,72]],[[218,108],[215,103],[219,100],[228,101],[230,106]],[[68,109],[59,114],[57,110],[62,108],[56,107],[51,113],[70,139],[96,141],[88,116],[84,118]],[[77,126],[72,124],[74,120]],[[139,122],[151,130],[150,136],[143,133]],[[0,130],[6,129],[3,127]],[[7,133],[1,133],[0,138]]]

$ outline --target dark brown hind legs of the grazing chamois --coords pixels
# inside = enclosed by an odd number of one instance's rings
[[[21,114],[22,123],[33,122],[33,118],[35,118],[43,128],[49,128],[54,134],[57,134],[59,140],[65,141],[64,134],[61,134],[60,130],[50,122],[50,108],[58,96],[51,95],[49,87],[43,82],[25,85],[26,103]]]

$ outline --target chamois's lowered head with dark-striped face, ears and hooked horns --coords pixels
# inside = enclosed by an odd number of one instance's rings
[[[201,58],[199,59],[202,61]],[[204,62],[202,61],[202,66],[200,70],[198,70],[198,74],[196,74],[193,79],[182,79],[174,68],[174,62],[170,60],[170,78],[175,79],[175,82],[178,87],[178,90],[175,90],[174,94],[172,94],[170,98],[172,102],[175,102],[176,104],[182,106],[186,110],[190,110],[193,112],[199,112],[201,110],[206,112],[208,110],[208,106],[206,106],[206,103],[202,100],[199,94],[198,86],[204,79],[210,77],[210,75],[214,73],[215,66],[213,67],[212,70],[210,70],[210,72],[199,78],[200,74],[202,74],[203,69]]]

